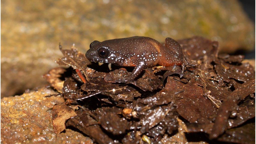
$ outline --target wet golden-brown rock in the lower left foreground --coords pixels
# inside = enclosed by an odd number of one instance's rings
[[[53,90],[40,88],[15,97],[1,99],[1,143],[92,143],[79,132],[67,129],[55,134],[52,126],[52,107],[64,102]]]

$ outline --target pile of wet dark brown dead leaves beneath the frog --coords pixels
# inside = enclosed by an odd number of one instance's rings
[[[115,83],[130,68],[91,63],[74,46],[60,46],[64,57],[57,63],[69,68],[55,68],[45,78],[68,106],[54,106],[53,121],[61,119],[54,123],[68,119],[66,126],[96,143],[254,143],[254,68],[241,55],[218,55],[218,42],[178,42],[196,67],[187,67],[182,78],[179,67],[148,68],[130,84]],[[54,129],[59,133],[63,126]]]

